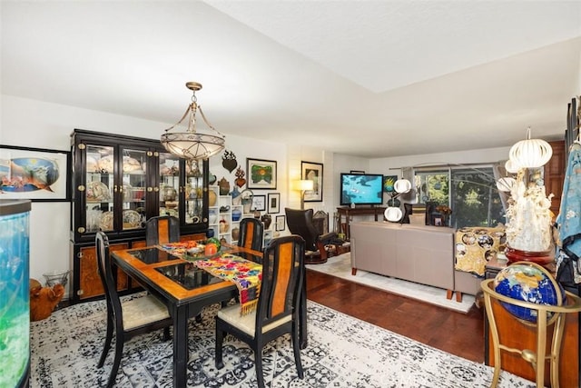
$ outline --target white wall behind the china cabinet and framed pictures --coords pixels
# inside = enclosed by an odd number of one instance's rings
[[[60,104],[47,104],[8,95],[2,95],[0,106],[2,107],[0,144],[7,145],[69,151],[70,134],[74,128],[159,138],[162,130],[170,126],[166,123],[105,114]],[[226,134],[226,145],[226,149],[236,154],[244,170],[246,170],[246,157],[277,161],[277,189],[259,191],[258,194],[281,193],[281,212],[284,212],[284,206],[288,200],[286,145],[228,134]],[[218,179],[225,176],[233,188],[235,170],[229,173],[223,168],[220,156],[212,158],[210,165],[212,174],[215,174]],[[34,202],[30,217],[30,276],[44,282],[43,274],[46,272],[72,270],[69,267],[70,204]]]

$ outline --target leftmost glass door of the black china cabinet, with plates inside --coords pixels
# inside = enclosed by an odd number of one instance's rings
[[[113,154],[113,146],[86,145],[84,225],[88,233],[113,230]]]

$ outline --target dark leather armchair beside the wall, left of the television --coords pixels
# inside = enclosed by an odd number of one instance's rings
[[[287,225],[291,234],[299,234],[305,240],[305,264],[323,264],[327,262],[329,252],[325,245],[338,240],[334,232],[320,234],[312,222],[312,209],[299,210],[284,208]]]

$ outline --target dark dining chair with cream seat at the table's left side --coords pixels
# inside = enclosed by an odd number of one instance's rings
[[[112,261],[109,256],[109,239],[103,232],[95,236],[97,251],[97,268],[105,290],[107,303],[107,333],[103,345],[103,353],[97,367],[102,368],[111,347],[113,332],[115,333],[115,356],[107,387],[113,386],[121,355],[123,343],[142,333],[163,329],[163,340],[170,339],[172,318],[167,307],[151,294],[135,297],[128,301],[121,301],[117,293],[115,278],[113,277]]]

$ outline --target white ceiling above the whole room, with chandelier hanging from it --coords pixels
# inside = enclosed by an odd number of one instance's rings
[[[562,138],[579,1],[2,1],[1,87],[386,157]]]

